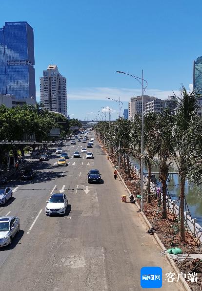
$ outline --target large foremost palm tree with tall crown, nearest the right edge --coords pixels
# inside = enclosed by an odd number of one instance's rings
[[[197,115],[199,109],[199,95],[196,91],[187,93],[185,87],[182,85],[180,89],[181,95],[176,97],[177,102],[177,114],[176,123],[173,131],[173,140],[175,155],[174,160],[179,168],[179,176],[181,180],[180,189],[180,226],[181,226],[181,239],[185,241],[185,229],[184,229],[184,185],[188,176],[187,160],[189,159],[189,144],[193,140],[194,136],[187,134],[191,128],[192,120]]]

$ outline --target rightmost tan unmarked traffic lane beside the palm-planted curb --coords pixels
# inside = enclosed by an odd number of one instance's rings
[[[100,154],[100,150],[95,166],[99,166],[104,184],[102,187],[96,185],[101,213],[97,227],[100,229],[99,241],[105,249],[107,286],[109,290],[141,290],[141,267],[160,266],[164,276],[173,270],[161,255],[154,238],[146,234],[147,227],[135,206],[121,203],[121,195],[127,192],[121,181],[114,180],[114,169],[107,161],[107,156]],[[170,285],[163,280],[162,290],[169,290]],[[172,287],[174,290],[183,290],[180,284]]]

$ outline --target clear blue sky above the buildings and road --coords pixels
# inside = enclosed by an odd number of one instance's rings
[[[141,85],[117,70],[148,81],[146,94],[165,99],[181,83],[189,89],[193,60],[202,55],[201,0],[13,0],[0,3],[5,21],[27,21],[34,29],[39,78],[57,64],[67,78],[68,114],[95,119],[101,106],[141,94]],[[101,113],[100,113],[101,114]],[[108,116],[108,113],[107,113]]]

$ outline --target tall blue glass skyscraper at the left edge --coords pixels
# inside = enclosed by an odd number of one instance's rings
[[[36,100],[34,34],[27,22],[0,28],[0,94]]]

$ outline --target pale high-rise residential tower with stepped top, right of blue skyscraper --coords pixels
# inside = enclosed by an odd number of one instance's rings
[[[67,117],[66,78],[55,64],[50,64],[40,78],[40,101],[49,111],[62,113]]]

